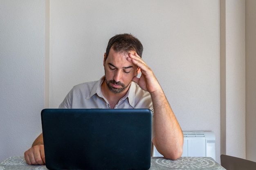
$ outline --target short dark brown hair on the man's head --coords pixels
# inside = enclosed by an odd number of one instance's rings
[[[129,51],[135,51],[140,57],[142,56],[143,46],[141,42],[133,35],[124,33],[118,34],[110,38],[106,49],[106,58],[108,57],[110,49],[115,52],[129,53]]]

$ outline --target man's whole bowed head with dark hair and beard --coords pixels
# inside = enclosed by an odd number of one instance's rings
[[[113,93],[126,93],[133,77],[140,73],[132,62],[127,60],[129,53],[140,57],[143,46],[141,42],[130,34],[119,34],[110,38],[106,53],[104,54],[103,66],[105,70],[105,82],[108,89]]]

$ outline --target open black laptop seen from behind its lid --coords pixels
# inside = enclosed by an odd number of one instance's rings
[[[44,109],[46,167],[50,170],[148,170],[149,109]]]

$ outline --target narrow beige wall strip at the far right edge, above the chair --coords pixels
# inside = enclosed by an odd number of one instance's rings
[[[256,1],[246,0],[246,159],[256,162]]]

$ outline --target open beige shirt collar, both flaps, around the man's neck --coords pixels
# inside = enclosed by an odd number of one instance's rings
[[[99,79],[99,81],[93,86],[89,98],[91,98],[93,95],[97,94],[99,97],[105,99],[105,97],[102,95],[102,92],[101,92],[101,84],[104,82],[104,80],[105,80],[105,76],[101,77],[101,79]],[[128,102],[129,102],[130,106],[132,106],[134,108],[135,107],[135,91],[136,91],[136,84],[135,84],[135,82],[132,82],[126,95],[124,97],[122,97],[120,99],[120,101],[128,98]]]

